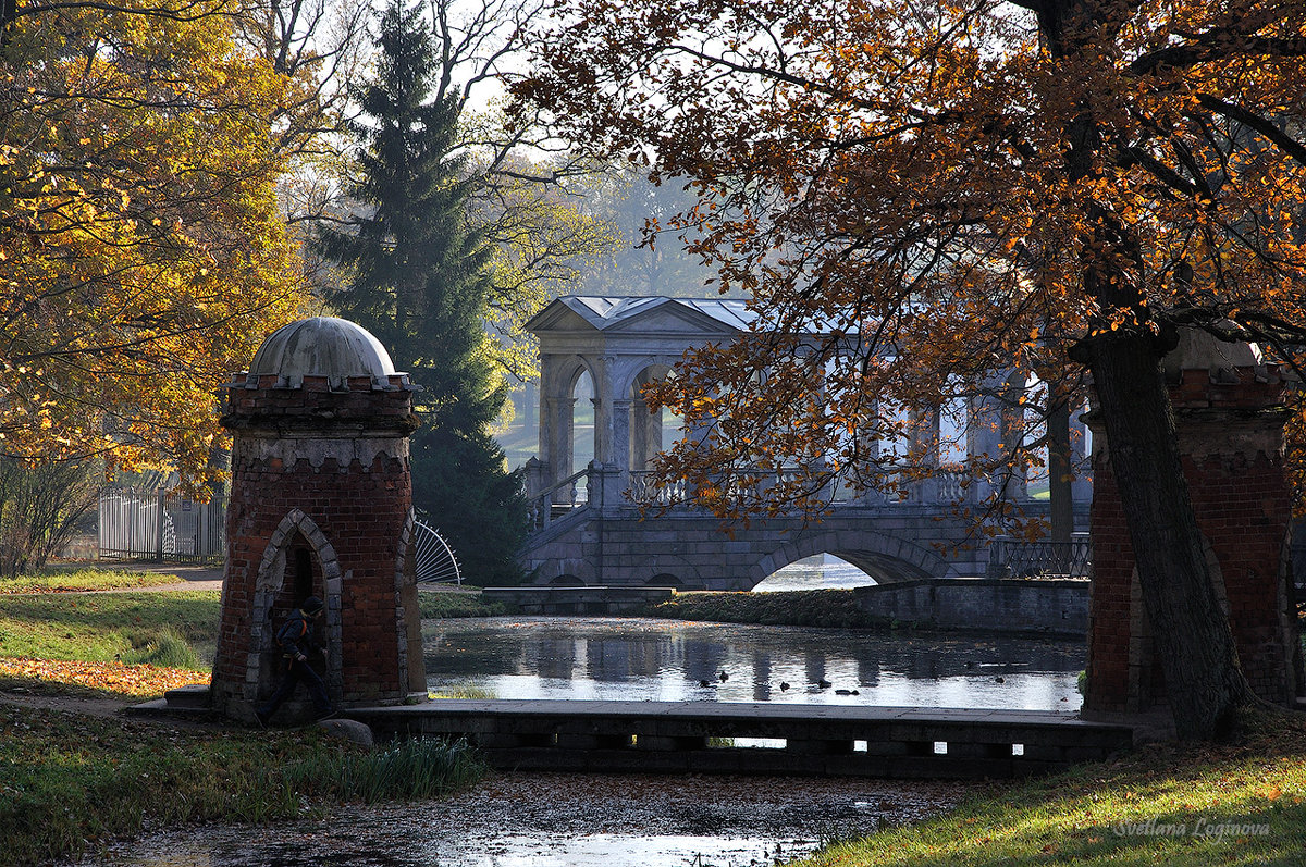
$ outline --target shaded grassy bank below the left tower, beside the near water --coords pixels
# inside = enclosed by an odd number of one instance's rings
[[[146,825],[269,821],[328,803],[447,795],[483,766],[464,744],[367,752],[315,730],[176,730],[0,705],[0,866],[94,851]]]

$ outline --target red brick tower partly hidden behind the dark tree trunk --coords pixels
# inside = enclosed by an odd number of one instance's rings
[[[1284,467],[1284,371],[1247,343],[1185,332],[1162,363],[1183,474],[1238,658],[1256,695],[1290,705],[1302,687]],[[1101,422],[1093,422],[1093,590],[1087,712],[1165,706],[1165,682],[1134,568]]]

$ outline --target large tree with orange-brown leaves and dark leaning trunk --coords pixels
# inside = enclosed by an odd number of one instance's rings
[[[1302,342],[1303,4],[586,0],[537,50],[518,94],[692,180],[693,249],[755,298],[759,333],[660,393],[710,430],[665,475],[727,513],[750,504],[720,478],[752,466],[876,484],[896,458],[867,444],[908,432],[892,407],[1088,372],[1181,733],[1228,721],[1249,691],[1157,362],[1181,326],[1279,362]]]

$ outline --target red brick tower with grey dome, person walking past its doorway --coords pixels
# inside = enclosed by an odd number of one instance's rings
[[[214,709],[249,719],[276,688],[274,632],[308,595],[333,702],[426,695],[413,568],[414,386],[368,332],[315,317],[274,332],[226,386],[231,504]],[[299,704],[296,704],[299,702]],[[299,691],[281,712],[308,710]]]

